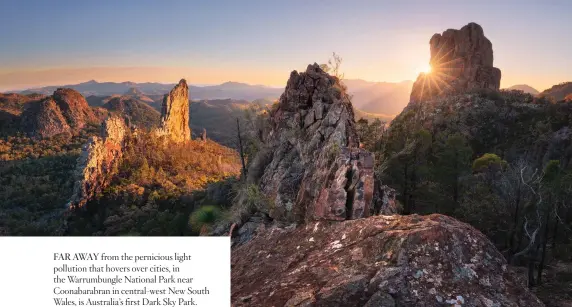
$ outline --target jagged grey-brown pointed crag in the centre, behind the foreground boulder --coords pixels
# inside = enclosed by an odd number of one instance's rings
[[[270,114],[265,148],[248,181],[271,197],[270,216],[302,222],[369,215],[373,154],[358,148],[352,104],[336,77],[293,71]]]

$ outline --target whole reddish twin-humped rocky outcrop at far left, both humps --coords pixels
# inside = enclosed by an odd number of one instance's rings
[[[27,104],[21,116],[24,131],[36,137],[73,134],[97,121],[85,98],[72,89],[57,89],[51,97]]]

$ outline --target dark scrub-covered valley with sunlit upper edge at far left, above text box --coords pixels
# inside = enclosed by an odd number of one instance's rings
[[[0,139],[0,233],[49,235],[61,227],[81,146],[98,129],[73,138]]]

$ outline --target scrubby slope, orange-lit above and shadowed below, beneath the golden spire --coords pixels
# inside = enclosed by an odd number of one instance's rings
[[[214,142],[165,144],[152,134],[140,134],[130,138],[118,175],[103,195],[72,217],[70,234],[199,234],[203,225],[222,216],[214,209],[205,215],[210,209],[203,206],[223,210],[230,203],[232,184],[219,185],[226,192],[209,191],[208,185],[233,181],[239,172],[236,151]]]

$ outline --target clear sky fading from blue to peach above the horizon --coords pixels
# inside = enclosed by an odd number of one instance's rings
[[[284,86],[343,58],[346,78],[414,80],[429,39],[480,24],[501,86],[572,81],[572,0],[0,0],[0,90],[97,81]]]

